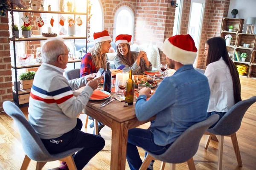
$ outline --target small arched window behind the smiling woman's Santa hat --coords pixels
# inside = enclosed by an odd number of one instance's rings
[[[119,34],[130,34],[133,35],[134,20],[133,14],[127,9],[123,9],[117,14],[116,17],[116,35]]]

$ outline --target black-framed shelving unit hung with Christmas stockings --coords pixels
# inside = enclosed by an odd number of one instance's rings
[[[22,64],[22,65],[18,65],[17,63],[17,59],[16,59],[16,45],[15,43],[17,42],[30,42],[30,41],[44,41],[47,40],[50,37],[44,37],[42,35],[32,35],[31,37],[28,38],[24,38],[24,37],[19,37],[19,38],[15,38],[15,30],[14,30],[14,13],[15,12],[24,12],[24,13],[46,13],[46,14],[72,14],[74,15],[74,18],[76,18],[76,15],[86,15],[87,13],[82,13],[82,12],[62,12],[62,11],[44,11],[44,10],[27,10],[27,9],[14,9],[13,7],[13,0],[11,0],[11,9],[9,9],[10,14],[11,14],[11,26],[12,26],[12,33],[9,37],[9,40],[12,41],[13,43],[13,55],[14,55],[14,61],[11,62],[12,64],[12,69],[14,69],[14,73],[15,73],[15,78],[13,79],[13,85],[15,87],[18,87],[18,78],[17,78],[17,71],[18,69],[29,69],[29,68],[37,68],[39,67],[41,64],[37,63],[37,62],[30,62],[30,63],[26,63],[26,64]],[[88,4],[86,6],[88,11]],[[89,13],[90,14],[90,13]],[[74,36],[69,36],[69,35],[57,35],[57,37],[61,37],[64,40],[74,40],[74,44],[76,42],[76,40],[82,39],[85,41],[85,48],[87,49],[87,34],[88,34],[88,16],[86,17],[86,21],[84,24],[86,24],[86,30],[85,31],[85,35],[74,35]],[[34,59],[34,58],[33,58]],[[81,62],[81,59],[70,59],[68,61],[68,63],[74,63],[74,68],[75,68],[75,64],[77,62]],[[20,106],[23,104],[27,104],[29,102],[29,96],[30,96],[30,89],[14,89],[13,86],[13,100],[15,102],[16,105]]]

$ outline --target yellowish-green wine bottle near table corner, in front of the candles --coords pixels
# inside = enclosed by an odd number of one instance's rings
[[[134,100],[134,81],[132,79],[132,70],[130,70],[129,79],[126,81],[125,103],[128,103],[128,105],[133,105],[133,100]]]

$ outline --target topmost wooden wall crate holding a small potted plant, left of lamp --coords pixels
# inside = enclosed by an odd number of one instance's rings
[[[232,25],[233,32],[239,33],[243,30],[244,19],[242,18],[223,18],[221,24],[221,31],[228,32],[228,26]]]

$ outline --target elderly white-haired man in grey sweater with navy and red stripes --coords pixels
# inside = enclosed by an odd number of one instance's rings
[[[50,38],[42,47],[43,64],[35,74],[29,98],[29,123],[51,154],[83,147],[73,155],[78,170],[105,146],[98,135],[81,131],[76,118],[87,104],[102,77],[95,74],[67,81],[63,76],[68,62],[68,48],[63,39]],[[77,97],[73,90],[85,86]],[[62,162],[59,170],[68,170]]]

